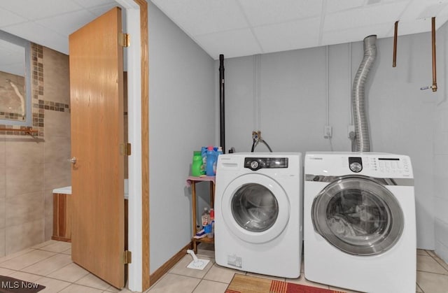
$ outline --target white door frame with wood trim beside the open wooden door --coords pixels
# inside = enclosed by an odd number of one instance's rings
[[[129,290],[143,292],[150,286],[149,270],[149,88],[148,2],[116,0],[126,10],[129,164],[128,265]],[[141,99],[130,99],[141,97]]]

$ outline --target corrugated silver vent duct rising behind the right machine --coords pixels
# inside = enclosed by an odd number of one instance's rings
[[[375,45],[377,36],[367,36],[364,38],[364,57],[359,65],[358,72],[353,80],[351,91],[351,103],[353,110],[353,120],[355,124],[355,152],[370,152],[370,135],[367,124],[367,111],[365,110],[365,80],[377,57],[377,46]]]

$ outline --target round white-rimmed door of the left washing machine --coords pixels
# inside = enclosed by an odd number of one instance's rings
[[[249,243],[265,243],[285,229],[290,203],[285,190],[272,178],[246,174],[225,188],[221,213],[235,236]]]

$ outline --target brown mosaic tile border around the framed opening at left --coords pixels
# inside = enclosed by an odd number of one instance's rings
[[[45,110],[54,110],[57,112],[70,113],[70,105],[66,103],[57,103],[44,99],[43,86],[43,46],[31,43],[31,115],[32,129],[38,130],[38,136],[44,136],[43,130],[45,126]],[[0,113],[1,115],[8,113]],[[10,129],[27,129],[28,127],[20,127],[13,125],[0,125],[0,128],[8,127]],[[0,131],[0,134],[21,135],[25,136],[22,131]]]

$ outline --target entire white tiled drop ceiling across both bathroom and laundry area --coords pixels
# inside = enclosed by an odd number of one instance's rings
[[[430,31],[448,20],[448,0],[152,0],[218,59]],[[0,29],[68,54],[68,36],[118,3],[14,0],[0,3]],[[151,6],[150,6],[151,8]],[[151,15],[151,14],[150,14]]]

